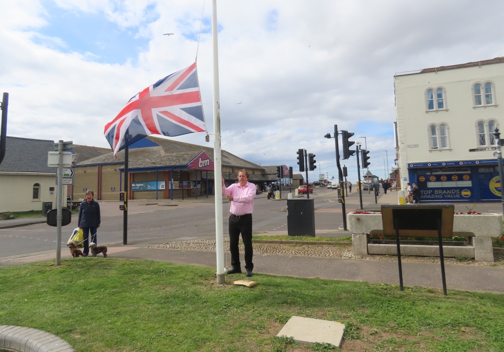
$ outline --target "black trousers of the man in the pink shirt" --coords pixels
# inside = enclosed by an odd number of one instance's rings
[[[229,250],[231,251],[231,265],[233,268],[240,269],[240,252],[238,250],[238,241],[243,240],[245,246],[245,270],[254,269],[252,263],[252,214],[229,216]]]

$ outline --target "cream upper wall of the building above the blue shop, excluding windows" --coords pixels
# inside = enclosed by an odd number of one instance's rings
[[[473,86],[475,83],[482,85],[484,100],[485,82],[493,84],[493,104],[476,106]],[[408,163],[494,159],[493,151],[469,152],[469,149],[480,147],[475,127],[478,121],[494,120],[497,127],[499,122],[504,122],[500,117],[502,108],[497,105],[500,92],[504,90],[503,63],[396,76],[394,87],[399,140],[398,162],[404,184],[409,182],[404,181],[404,178],[408,179]],[[428,110],[426,91],[431,88],[435,93],[438,87],[445,91],[445,109]],[[428,126],[431,124],[448,126],[448,148],[430,148]],[[408,145],[410,147],[407,147]]]

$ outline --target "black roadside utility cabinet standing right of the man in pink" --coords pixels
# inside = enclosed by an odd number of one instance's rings
[[[287,234],[315,237],[313,199],[287,199]]]

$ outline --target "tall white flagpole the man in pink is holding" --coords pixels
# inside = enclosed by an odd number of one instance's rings
[[[213,117],[214,117],[214,188],[215,188],[215,252],[217,255],[217,283],[224,284],[224,235],[222,229],[221,129],[219,102],[219,57],[217,52],[217,0],[212,0],[213,52]]]

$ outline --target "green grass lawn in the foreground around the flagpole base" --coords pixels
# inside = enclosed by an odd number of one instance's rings
[[[504,350],[504,295],[263,274],[247,288],[218,286],[199,266],[49,264],[0,267],[0,324],[49,331],[78,351],[330,350],[272,337],[292,315],[345,323],[343,351]]]

